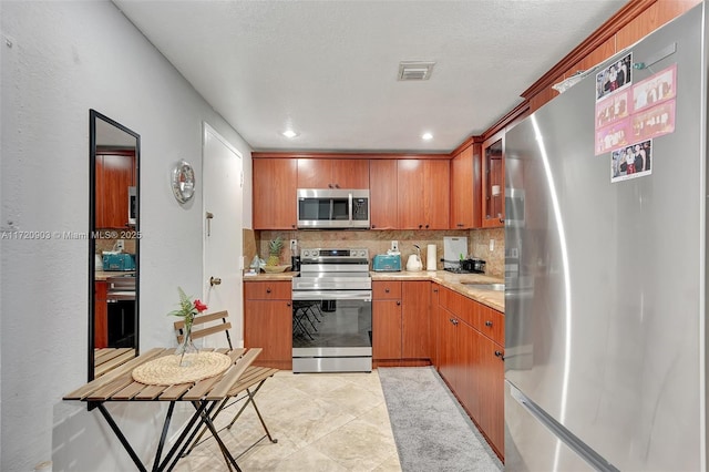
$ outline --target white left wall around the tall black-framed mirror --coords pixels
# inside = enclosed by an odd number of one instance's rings
[[[202,196],[179,206],[177,160],[202,166],[202,122],[250,148],[107,1],[0,1],[3,230],[85,232],[89,109],[141,135],[141,346],[174,345],[176,287],[199,293]],[[197,175],[199,185],[199,174]],[[250,226],[250,186],[244,226]],[[0,470],[132,470],[96,410],[62,401],[86,379],[88,242],[0,240]],[[150,455],[160,407],[111,408]],[[141,411],[137,411],[141,410]]]

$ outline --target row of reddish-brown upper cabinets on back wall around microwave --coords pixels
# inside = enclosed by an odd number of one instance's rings
[[[254,229],[296,229],[297,188],[369,188],[372,229],[450,229],[449,158],[257,157],[253,163]]]

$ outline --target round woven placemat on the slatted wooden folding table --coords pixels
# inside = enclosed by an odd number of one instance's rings
[[[232,366],[232,358],[219,352],[185,355],[189,365],[181,367],[178,355],[165,356],[133,369],[133,380],[148,386],[174,386],[217,376]]]

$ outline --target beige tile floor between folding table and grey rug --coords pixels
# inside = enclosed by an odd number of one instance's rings
[[[401,471],[389,413],[377,371],[371,373],[297,373],[279,371],[256,396],[256,403],[277,443],[264,439],[237,459],[250,471]],[[239,403],[240,404],[240,403]],[[220,428],[235,406],[217,419]],[[249,406],[220,437],[234,455],[264,435]],[[214,440],[181,460],[179,472],[227,470]]]

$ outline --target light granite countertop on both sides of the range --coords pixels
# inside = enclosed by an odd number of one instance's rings
[[[298,273],[280,273],[280,274],[258,274],[257,276],[245,276],[244,281],[267,281],[267,280],[291,280]],[[399,273],[370,273],[372,280],[432,280],[441,284],[443,287],[450,288],[467,298],[489,306],[497,311],[505,311],[505,294],[504,291],[482,290],[469,287],[463,284],[481,283],[481,284],[504,284],[504,278],[491,277],[484,274],[453,274],[446,270],[410,273],[402,270]]]

